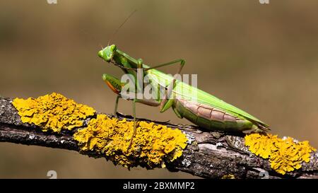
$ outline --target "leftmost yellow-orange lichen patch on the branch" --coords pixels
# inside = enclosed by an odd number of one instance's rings
[[[18,110],[22,122],[36,124],[42,131],[81,127],[83,119],[94,115],[92,107],[75,103],[58,93],[40,96],[39,98],[16,98],[12,102]]]

